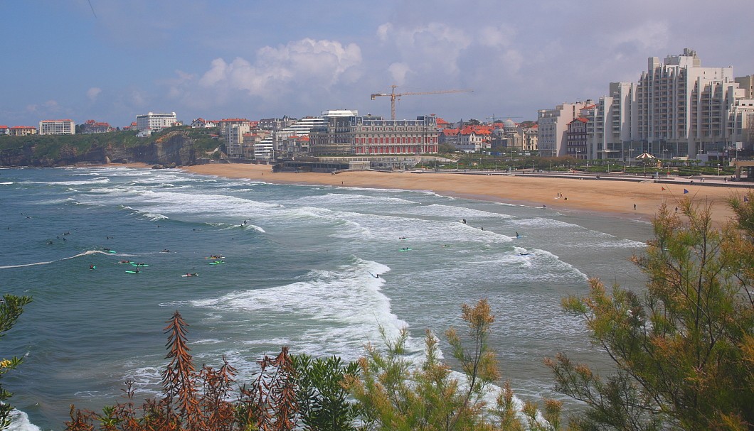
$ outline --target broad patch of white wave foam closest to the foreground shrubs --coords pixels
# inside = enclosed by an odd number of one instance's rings
[[[279,338],[275,332],[282,331],[284,344],[296,352],[356,360],[363,354],[365,342],[379,341],[379,326],[391,337],[406,326],[392,313],[390,299],[380,291],[385,279],[375,277],[389,270],[380,263],[354,258],[333,271],[312,270],[292,284],[239,290],[189,303],[207,309],[213,321],[222,314],[226,325],[228,313],[264,315],[265,326],[269,326],[266,335],[252,336],[247,343],[270,345],[270,337]],[[249,333],[254,332],[265,329],[257,327]]]

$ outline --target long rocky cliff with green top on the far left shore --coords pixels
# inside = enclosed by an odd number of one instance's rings
[[[208,132],[173,128],[150,138],[135,132],[101,135],[0,136],[2,166],[65,166],[108,162],[193,165],[219,146]]]

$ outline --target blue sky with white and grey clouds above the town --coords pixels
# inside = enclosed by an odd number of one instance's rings
[[[697,51],[754,74],[751,0],[0,0],[0,124],[329,109],[536,120]]]

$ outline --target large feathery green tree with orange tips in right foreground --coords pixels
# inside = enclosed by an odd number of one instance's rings
[[[711,206],[685,199],[661,207],[654,239],[633,262],[645,293],[598,279],[564,299],[586,320],[615,372],[603,379],[566,354],[547,359],[556,390],[588,405],[576,429],[752,429],[754,426],[754,248],[737,224],[713,227]],[[734,206],[734,209],[737,207]],[[743,228],[743,231],[742,229]]]

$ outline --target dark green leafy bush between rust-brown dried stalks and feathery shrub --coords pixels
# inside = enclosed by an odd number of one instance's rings
[[[357,405],[349,401],[347,376],[359,371],[357,363],[344,364],[339,357],[312,360],[308,355],[291,357],[296,369],[298,405],[304,429],[319,431],[355,430]]]

